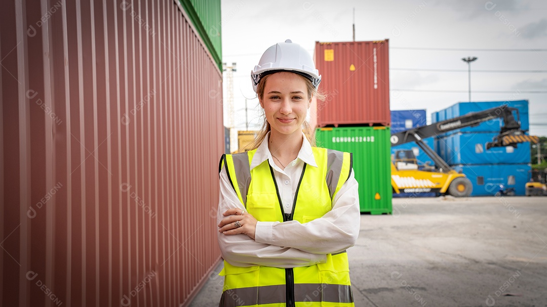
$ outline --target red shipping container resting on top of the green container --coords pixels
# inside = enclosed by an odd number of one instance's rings
[[[314,60],[328,93],[317,102],[317,126],[389,126],[388,40],[316,42]]]

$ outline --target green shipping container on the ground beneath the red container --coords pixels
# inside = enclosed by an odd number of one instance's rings
[[[352,152],[362,213],[391,214],[389,127],[318,128],[317,146]]]

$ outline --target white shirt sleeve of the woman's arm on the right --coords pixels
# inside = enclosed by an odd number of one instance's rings
[[[296,247],[301,251],[327,254],[353,246],[359,235],[359,184],[350,178],[333,200],[333,209],[316,220],[300,223],[258,222],[255,240],[259,243]]]

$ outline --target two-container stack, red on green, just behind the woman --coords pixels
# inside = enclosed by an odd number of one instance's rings
[[[392,211],[388,40],[316,42],[314,60],[328,94],[317,102],[318,146],[353,153],[360,211]]]

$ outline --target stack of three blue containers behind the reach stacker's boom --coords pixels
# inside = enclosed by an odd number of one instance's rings
[[[501,105],[519,110],[521,129],[527,131],[528,101],[457,103],[432,114],[432,122],[452,119],[468,113],[496,108]],[[462,172],[473,184],[471,196],[491,196],[499,190],[513,187],[517,195],[525,194],[530,166],[529,143],[486,149],[486,143],[499,134],[502,119],[480,123],[440,135],[435,150],[453,169]]]

